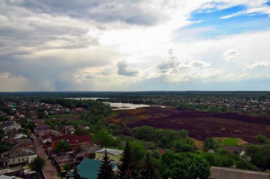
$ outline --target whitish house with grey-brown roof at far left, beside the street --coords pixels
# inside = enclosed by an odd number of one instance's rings
[[[1,154],[0,162],[2,166],[16,166],[30,163],[37,157],[35,147],[14,148]]]

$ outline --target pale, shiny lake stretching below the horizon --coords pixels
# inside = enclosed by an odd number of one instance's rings
[[[72,99],[72,98],[65,98],[65,99]],[[73,98],[75,100],[96,100],[96,99],[108,99],[108,98]],[[103,102],[103,103],[108,103],[110,107],[113,107],[115,109],[112,110],[134,110],[137,108],[142,108],[142,107],[150,107],[150,105],[145,105],[145,104],[132,104],[132,103],[110,103],[110,102]],[[152,105],[156,106],[156,105]],[[157,105],[158,106],[158,105]],[[165,106],[159,106],[161,108],[166,108]]]

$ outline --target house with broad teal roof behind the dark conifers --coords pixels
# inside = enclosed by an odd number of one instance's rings
[[[77,166],[78,174],[84,179],[97,179],[98,173],[100,170],[100,164],[102,164],[101,160],[93,160],[84,158],[82,162]],[[112,165],[112,170],[115,172],[117,170],[116,163],[110,162]],[[71,175],[68,173],[68,175]]]

